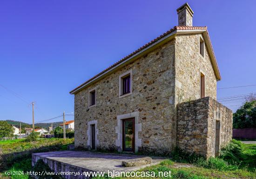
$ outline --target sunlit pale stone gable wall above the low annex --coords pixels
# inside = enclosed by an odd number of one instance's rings
[[[200,72],[205,75],[205,96],[216,99],[216,76],[207,47],[199,53],[201,34],[175,37],[175,104],[200,98]]]

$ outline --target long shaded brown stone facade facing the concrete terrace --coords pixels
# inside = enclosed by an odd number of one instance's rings
[[[88,148],[88,122],[97,121],[96,148],[117,149],[118,116],[138,116],[138,151],[170,152],[176,145],[175,40],[75,93],[75,147]],[[119,98],[119,76],[132,71],[132,94]],[[96,106],[88,107],[88,91],[96,88]],[[136,136],[135,136],[136,137]],[[161,149],[161,150],[159,150]]]

